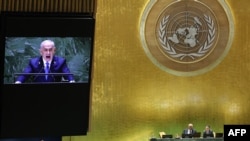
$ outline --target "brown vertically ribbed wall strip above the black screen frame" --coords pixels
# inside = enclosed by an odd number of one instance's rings
[[[96,0],[0,0],[0,11],[95,13]]]

